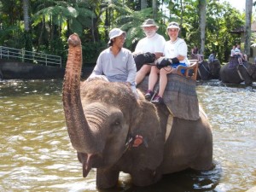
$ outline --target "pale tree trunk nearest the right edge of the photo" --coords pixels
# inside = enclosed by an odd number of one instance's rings
[[[252,23],[253,0],[246,1],[246,26],[245,26],[245,40],[244,53],[250,55],[251,46],[251,23]]]

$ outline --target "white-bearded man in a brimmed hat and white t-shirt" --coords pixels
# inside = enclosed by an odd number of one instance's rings
[[[145,55],[145,53],[151,53],[154,54],[154,59],[151,62],[154,62],[155,59],[158,59],[163,55],[166,39],[160,34],[156,33],[159,26],[157,26],[152,19],[145,20],[142,28],[146,37],[139,40],[133,55],[136,56],[139,54]],[[135,61],[137,61],[137,58],[135,57]],[[139,69],[135,79],[137,84],[140,84],[143,81],[147,73],[150,72],[150,69],[151,66],[149,65],[143,65],[143,67]]]

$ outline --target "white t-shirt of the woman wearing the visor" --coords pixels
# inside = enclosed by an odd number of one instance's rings
[[[175,42],[172,42],[171,40],[166,41],[164,49],[164,55],[166,58],[174,58],[177,57],[177,55],[184,56],[184,60],[179,62],[185,63],[187,66],[189,66],[190,63],[187,54],[188,46],[182,38],[177,38]]]

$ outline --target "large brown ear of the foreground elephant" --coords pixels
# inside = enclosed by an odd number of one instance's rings
[[[143,143],[138,147],[131,147],[128,155],[133,161],[134,168],[154,170],[163,160],[165,134],[160,128],[160,117],[154,105],[147,101],[140,101],[139,108],[133,113],[131,135],[143,137]]]

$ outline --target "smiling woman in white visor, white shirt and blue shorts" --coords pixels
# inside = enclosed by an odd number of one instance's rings
[[[164,49],[164,58],[157,61],[156,66],[151,68],[148,79],[148,91],[145,95],[146,98],[151,98],[154,93],[154,85],[158,80],[158,73],[160,73],[160,88],[158,95],[154,97],[152,102],[161,103],[163,101],[164,91],[166,90],[167,74],[176,73],[177,66],[189,66],[187,57],[188,46],[182,38],[177,38],[180,28],[177,22],[171,22],[167,26],[167,33],[170,40],[166,42]]]

